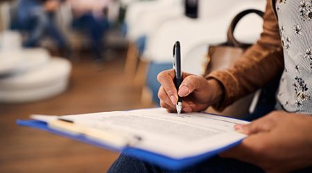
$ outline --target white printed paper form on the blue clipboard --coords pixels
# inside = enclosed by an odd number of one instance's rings
[[[246,137],[233,126],[243,120],[207,113],[167,113],[165,109],[139,109],[60,116],[83,127],[141,138],[134,146],[171,158],[186,158],[225,147]]]

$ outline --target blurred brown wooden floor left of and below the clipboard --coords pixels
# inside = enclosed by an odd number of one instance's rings
[[[123,73],[123,51],[104,62],[91,57],[73,63],[70,86],[62,95],[26,104],[0,104],[0,172],[106,172],[119,156],[75,140],[17,126],[32,113],[62,115],[137,109],[141,87]]]

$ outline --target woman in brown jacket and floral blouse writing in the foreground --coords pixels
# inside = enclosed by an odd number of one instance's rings
[[[312,172],[312,2],[268,0],[263,33],[236,64],[203,77],[183,73],[175,89],[173,70],[159,73],[160,104],[175,112],[177,95],[184,112],[222,110],[283,71],[276,111],[234,129],[248,134],[220,156],[185,172]],[[121,154],[109,172],[167,172]],[[180,171],[183,172],[183,171]]]

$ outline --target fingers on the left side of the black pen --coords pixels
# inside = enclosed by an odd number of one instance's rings
[[[166,102],[166,95],[171,100],[171,104],[175,105],[177,103],[177,89],[175,89],[175,84],[173,79],[175,78],[175,73],[173,70],[162,71],[157,75],[157,80],[162,84],[164,91],[159,89],[158,97],[160,100]],[[169,104],[166,102],[166,104]],[[169,104],[170,105],[170,104]]]

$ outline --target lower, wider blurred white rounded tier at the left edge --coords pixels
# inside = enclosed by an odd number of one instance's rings
[[[52,58],[24,73],[0,78],[0,102],[31,102],[58,95],[67,89],[70,72],[68,60]]]

